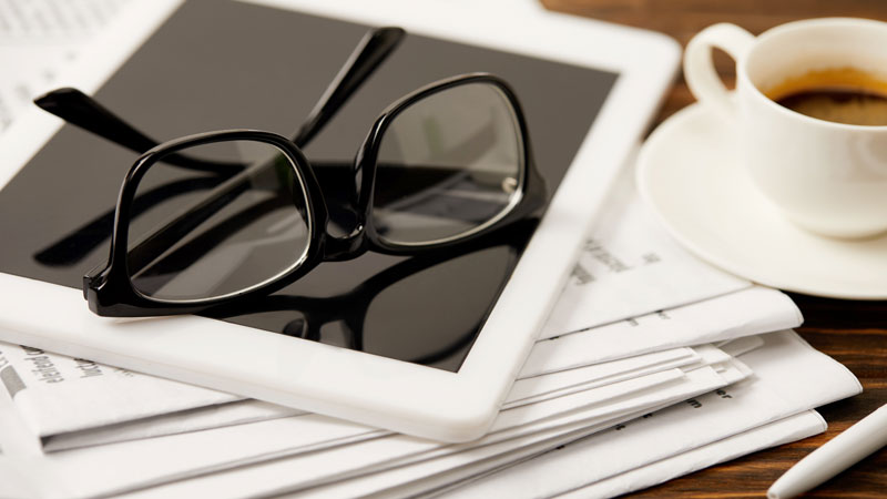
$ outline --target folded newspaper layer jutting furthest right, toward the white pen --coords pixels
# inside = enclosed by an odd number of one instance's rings
[[[551,497],[861,391],[846,367],[796,334],[775,333],[764,339],[764,347],[740,357],[754,370],[753,378],[552,450],[452,496],[496,491],[516,498]],[[671,475],[690,470],[671,469]]]

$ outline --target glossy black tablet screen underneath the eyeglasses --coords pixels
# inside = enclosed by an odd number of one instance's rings
[[[188,1],[95,96],[161,141],[234,128],[289,135],[366,31],[265,7]],[[514,88],[550,193],[616,79],[408,34],[306,155],[312,162],[353,162],[385,106],[468,72],[490,72]],[[0,191],[0,272],[80,288],[82,276],[108,257],[110,213],[135,157],[65,125]],[[508,237],[447,257],[365,254],[325,263],[248,308],[214,317],[455,371],[531,234],[524,224]]]

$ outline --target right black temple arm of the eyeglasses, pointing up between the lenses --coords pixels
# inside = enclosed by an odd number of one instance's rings
[[[400,28],[376,28],[367,32],[296,131],[293,142],[299,147],[307,145],[397,48],[405,34]]]

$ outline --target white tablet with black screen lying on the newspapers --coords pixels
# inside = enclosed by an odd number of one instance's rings
[[[443,441],[489,428],[608,186],[671,83],[664,35],[536,2],[143,2],[65,85],[159,140],[289,135],[371,27],[407,37],[305,149],[351,161],[379,112],[456,74],[506,80],[548,185],[538,223],[445,257],[324,263],[247,309],[93,315],[137,154],[32,110],[0,139],[0,338]]]

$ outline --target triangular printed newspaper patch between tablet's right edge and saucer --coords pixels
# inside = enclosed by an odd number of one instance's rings
[[[643,204],[633,169],[614,183],[541,337],[674,308],[752,285],[681,247]]]

